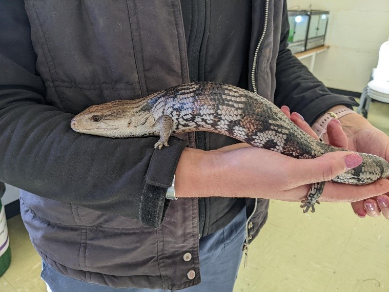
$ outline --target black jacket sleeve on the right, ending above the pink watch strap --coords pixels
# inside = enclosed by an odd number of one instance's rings
[[[288,10],[284,1],[274,103],[278,107],[286,105],[291,111],[300,113],[311,126],[317,118],[336,105],[350,108],[358,106],[354,98],[331,93],[315,78],[288,49],[288,36]]]

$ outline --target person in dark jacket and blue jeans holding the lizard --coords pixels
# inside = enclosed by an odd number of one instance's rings
[[[245,233],[249,243],[258,235],[268,199],[299,201],[313,181],[358,165],[346,152],[303,162],[204,132],[155,150],[156,137],[81,136],[69,126],[91,105],[198,80],[257,92],[311,126],[355,106],[291,54],[284,1],[0,6],[0,181],[22,189],[23,220],[54,292],[232,290]],[[349,150],[389,160],[389,139],[367,120],[339,121]],[[330,142],[344,142],[331,127]],[[178,200],[166,198],[174,176]],[[327,183],[321,200],[388,218],[388,191],[387,180]]]

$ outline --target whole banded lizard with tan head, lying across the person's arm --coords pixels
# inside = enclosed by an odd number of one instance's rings
[[[315,158],[344,151],[315,140],[269,100],[247,90],[216,82],[178,85],[137,100],[117,100],[92,106],[71,121],[74,131],[106,137],[159,135],[155,147],[168,146],[171,134],[209,131],[234,137],[254,147],[294,158]],[[360,153],[363,162],[333,181],[367,184],[389,176],[389,163]],[[321,195],[324,183],[314,184],[303,201],[304,212]]]

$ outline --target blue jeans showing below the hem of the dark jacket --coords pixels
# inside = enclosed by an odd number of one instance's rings
[[[224,228],[200,238],[200,274],[201,283],[181,291],[232,291],[238,268],[242,258],[244,242],[244,225],[246,208]],[[83,282],[57,273],[46,263],[43,263],[42,279],[53,292],[83,291],[83,292],[146,292],[168,291],[139,288],[112,288],[103,285]]]

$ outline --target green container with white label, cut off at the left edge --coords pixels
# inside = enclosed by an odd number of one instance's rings
[[[11,264],[11,246],[9,245],[6,212],[1,200],[5,191],[5,184],[0,182],[0,277]]]

